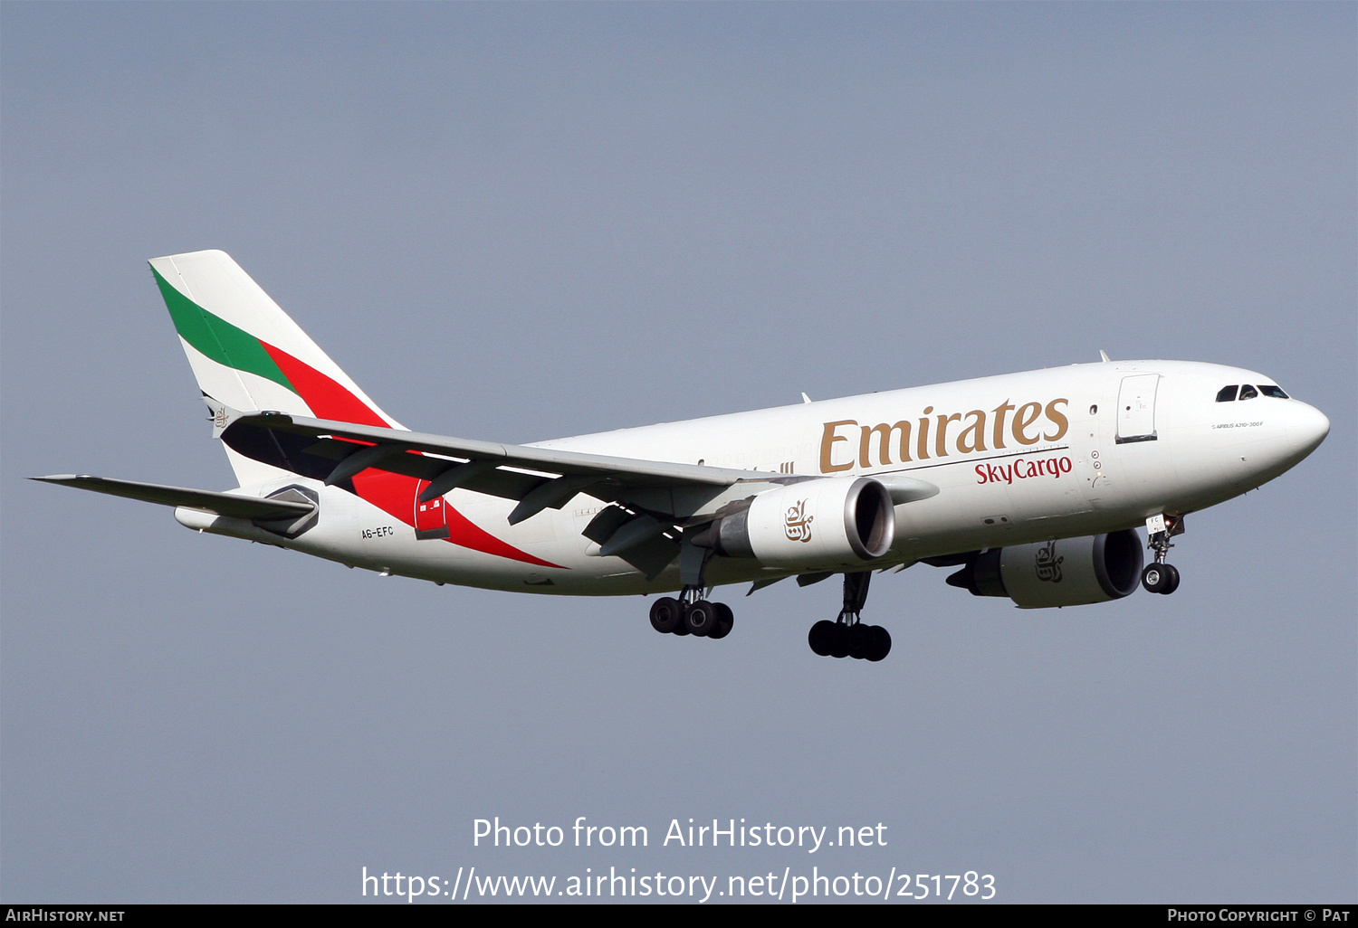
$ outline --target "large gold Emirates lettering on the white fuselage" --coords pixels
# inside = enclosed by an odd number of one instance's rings
[[[858,425],[856,419],[826,422],[820,436],[820,472],[837,473],[851,471],[854,467],[906,464],[948,457],[953,452],[970,455],[972,452],[1002,450],[1010,446],[1006,444],[1006,438],[1019,448],[1059,441],[1070,429],[1070,421],[1061,408],[1069,404],[1070,400],[1065,398],[1054,399],[1046,407],[1036,402],[1013,406],[1006,399],[989,412],[971,410],[970,412],[934,415],[934,407],[926,406],[918,419],[902,419],[891,425],[883,422],[865,426]],[[1014,414],[1012,418],[1010,412]],[[949,434],[949,426],[953,422],[957,423],[957,430],[955,434]],[[896,433],[899,433],[899,440],[892,441],[896,438]],[[914,433],[913,438],[911,433]],[[930,433],[933,434],[930,436]],[[877,438],[876,464],[872,453],[875,436]],[[846,450],[853,453],[854,438],[857,438],[858,445],[857,459],[845,460]],[[838,442],[843,442],[847,448],[835,448]],[[892,460],[892,452],[895,452],[896,460]],[[985,482],[982,480],[982,483]]]

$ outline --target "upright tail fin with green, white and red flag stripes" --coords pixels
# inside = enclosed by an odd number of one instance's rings
[[[403,429],[224,251],[151,259],[198,389],[215,412],[277,410]],[[278,471],[228,449],[242,484]],[[265,469],[261,469],[261,468]]]

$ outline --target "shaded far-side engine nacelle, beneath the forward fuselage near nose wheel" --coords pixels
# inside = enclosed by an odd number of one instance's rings
[[[1131,594],[1141,581],[1135,529],[1082,539],[991,548],[948,578],[975,596],[1008,596],[1021,609],[1107,602]]]

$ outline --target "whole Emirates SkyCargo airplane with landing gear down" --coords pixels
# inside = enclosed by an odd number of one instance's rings
[[[891,635],[861,619],[869,582],[915,563],[1025,609],[1171,594],[1184,517],[1279,476],[1329,431],[1264,374],[1100,351],[530,445],[451,438],[387,415],[225,252],[149,263],[239,486],[33,479],[440,586],[660,593],[650,624],[679,636],[731,632],[717,586],[839,574],[842,609],[808,643],[881,661]]]

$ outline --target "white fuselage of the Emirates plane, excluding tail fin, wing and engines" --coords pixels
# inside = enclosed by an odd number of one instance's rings
[[[618,457],[758,469],[777,475],[902,473],[938,487],[895,506],[885,567],[921,558],[1134,528],[1156,514],[1213,506],[1285,472],[1328,433],[1296,399],[1217,402],[1228,385],[1268,377],[1214,364],[1127,361],[915,387],[751,412],[539,442]],[[555,567],[416,537],[411,525],[338,487],[291,478],[320,494],[319,521],[295,540],[247,522],[179,510],[191,528],[266,540],[346,564],[435,582],[608,596],[675,590],[678,564],[648,581],[598,555],[581,530],[604,503],[577,495],[519,525],[513,501],[454,490],[447,502],[485,532]],[[265,495],[281,483],[251,488]],[[714,499],[748,495],[736,487]],[[771,579],[786,570],[714,558],[712,585]],[[550,581],[550,583],[549,583]]]

